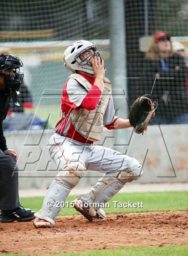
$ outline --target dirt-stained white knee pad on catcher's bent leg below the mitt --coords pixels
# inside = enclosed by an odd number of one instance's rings
[[[142,166],[137,159],[132,158],[128,163],[127,169],[122,170],[119,173],[118,178],[125,184],[127,182],[132,182],[133,180],[138,180],[142,174]]]

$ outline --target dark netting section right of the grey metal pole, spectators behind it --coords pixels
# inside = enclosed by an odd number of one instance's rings
[[[184,0],[125,2],[127,68],[128,77],[132,77],[128,79],[129,99],[132,102],[137,96],[152,94],[151,97],[158,101],[153,123],[188,121],[186,10],[188,11],[188,4]],[[171,44],[170,41],[162,42],[163,38],[153,43],[151,41],[159,31],[172,36],[171,41],[174,43],[168,50],[159,49],[159,44]],[[147,53],[150,46],[152,49]],[[183,51],[179,52],[178,49]],[[180,54],[184,54],[184,57],[179,56]]]

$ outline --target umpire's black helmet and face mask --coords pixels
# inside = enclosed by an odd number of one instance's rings
[[[11,90],[19,90],[24,74],[20,72],[23,66],[21,59],[14,55],[0,55],[0,76],[4,77],[4,84]]]

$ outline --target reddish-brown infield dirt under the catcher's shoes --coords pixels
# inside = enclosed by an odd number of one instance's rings
[[[58,217],[53,229],[32,222],[0,223],[0,253],[47,254],[118,247],[187,244],[187,211],[107,215],[88,222],[83,216]]]

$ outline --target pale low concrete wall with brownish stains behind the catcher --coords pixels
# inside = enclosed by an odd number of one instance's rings
[[[112,130],[104,131],[100,144],[137,158],[143,165],[144,175],[135,183],[188,180],[187,125],[149,126],[144,135],[132,133],[132,128],[127,130],[127,145],[114,146]],[[47,147],[52,134],[52,130],[5,133],[9,148],[19,154],[20,189],[46,188],[58,173]],[[98,172],[87,171],[78,186],[93,185],[99,176]]]

